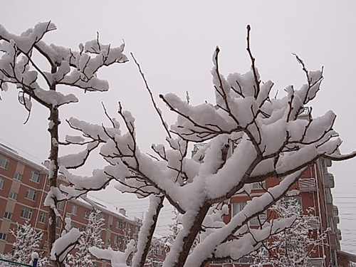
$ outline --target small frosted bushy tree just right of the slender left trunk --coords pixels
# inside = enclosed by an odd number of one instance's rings
[[[101,231],[105,224],[105,219],[98,216],[100,210],[94,209],[90,212],[88,217],[88,224],[81,231],[80,239],[78,241],[78,246],[76,251],[73,254],[68,254],[67,262],[70,266],[78,267],[94,267],[95,260],[89,252],[89,248],[103,248],[104,242],[101,239]]]

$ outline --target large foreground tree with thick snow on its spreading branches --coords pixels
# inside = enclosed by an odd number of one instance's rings
[[[168,136],[166,145],[152,145],[155,156],[137,147],[135,118],[120,103],[118,114],[123,126],[109,115],[110,126],[68,120],[70,127],[83,133],[83,137],[70,139],[87,148],[71,155],[68,164],[63,162],[61,172],[71,184],[61,187],[67,197],[101,189],[110,180],[119,182],[117,189],[121,192],[155,196],[150,201],[151,207],[157,207],[156,212],[147,213],[139,244],[152,240],[149,237],[158,218],[159,198],[167,199],[182,214],[182,229],[163,266],[204,266],[212,258],[239,259],[248,255],[269,236],[293,224],[293,218],[285,218],[273,224],[265,221],[261,229],[248,228],[248,221],[281,199],[306,167],[320,157],[343,160],[356,156],[356,152],[340,154],[341,140],[333,130],[335,114],[329,111],[313,117],[308,108],[320,89],[323,70],[307,70],[296,56],[305,72],[305,85],[300,89],[289,85],[285,96],[272,98],[273,82],[261,81],[249,36],[248,26],[251,70],[247,73],[231,73],[225,78],[219,70],[220,49],[214,51],[211,74],[215,103],[190,105],[172,93],[159,95],[177,114],[177,121],[170,127],[174,137]],[[204,148],[194,157],[187,157],[189,144],[201,142],[206,143]],[[93,172],[92,177],[70,174],[69,162],[83,164],[87,153],[97,145],[108,165]],[[286,178],[261,197],[248,201],[229,223],[224,222],[229,199],[248,184],[268,177]],[[200,243],[191,252],[199,235]],[[141,245],[137,257],[145,256],[143,250]],[[142,258],[135,258],[134,266],[142,266],[142,262]]]

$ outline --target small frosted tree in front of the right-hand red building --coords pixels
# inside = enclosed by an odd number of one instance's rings
[[[261,251],[257,253],[255,266],[271,265],[275,267],[306,267],[312,253],[318,246],[325,245],[328,230],[320,232],[314,209],[303,214],[302,205],[298,199],[288,197],[271,206],[276,218],[295,218],[288,229],[271,236]]]

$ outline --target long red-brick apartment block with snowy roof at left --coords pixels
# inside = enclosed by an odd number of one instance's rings
[[[28,157],[20,155],[11,147],[0,144],[0,253],[11,253],[14,236],[10,229],[16,223],[29,221],[37,231],[43,231],[41,251],[48,255],[48,208],[43,200],[49,190],[48,169]],[[64,179],[60,183],[66,184]],[[62,201],[58,211],[62,218],[70,217],[71,226],[80,230],[88,224],[88,216],[93,207],[99,209],[105,219],[101,237],[105,247],[124,250],[129,239],[137,239],[142,222],[129,219],[125,209],[117,209],[90,196]],[[58,236],[63,231],[61,219],[56,221]],[[110,266],[109,262],[98,261],[99,267]]]

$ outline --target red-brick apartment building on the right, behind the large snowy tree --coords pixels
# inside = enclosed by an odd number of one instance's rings
[[[331,162],[325,159],[318,159],[315,164],[305,170],[302,177],[291,189],[298,190],[298,194],[293,196],[298,199],[298,202],[303,208],[303,214],[308,214],[307,210],[313,208],[313,215],[318,219],[313,222],[313,230],[319,233],[327,232],[325,244],[314,248],[310,254],[308,264],[310,266],[339,266],[337,263],[337,251],[340,251],[341,231],[337,229],[337,224],[340,222],[337,206],[333,204],[331,188],[335,186],[333,174],[328,173],[328,167]],[[231,198],[229,203],[229,215],[226,216],[226,221],[229,221],[232,216],[237,214],[244,208],[246,201],[253,197],[261,196],[269,187],[276,186],[281,179],[268,178],[262,184],[252,184],[251,194],[241,192]],[[273,219],[274,214],[271,210],[260,215],[261,221]],[[251,227],[258,227],[258,219],[252,219],[249,222]],[[244,257],[239,261],[231,261],[230,263],[212,264],[211,267],[238,267],[249,266],[253,263],[252,258]]]

